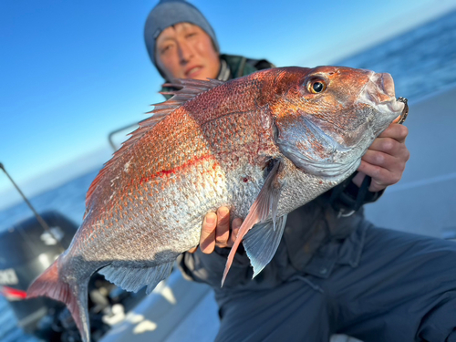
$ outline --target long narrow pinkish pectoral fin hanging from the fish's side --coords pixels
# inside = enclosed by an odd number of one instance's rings
[[[226,275],[228,275],[231,264],[233,264],[234,254],[236,254],[239,244],[243,241],[244,235],[256,223],[263,223],[270,216],[272,216],[273,229],[275,229],[275,215],[280,197],[280,187],[277,182],[277,174],[279,173],[280,164],[280,161],[275,162],[273,169],[269,172],[266,180],[264,181],[263,188],[260,193],[258,193],[258,197],[250,207],[250,211],[247,214],[247,217],[245,217],[244,223],[239,228],[239,233],[236,236],[236,240],[234,241],[233,247],[228,255],[228,259],[226,260],[222,286]]]

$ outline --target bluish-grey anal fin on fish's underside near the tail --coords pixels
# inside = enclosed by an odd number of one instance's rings
[[[100,269],[98,273],[126,291],[138,292],[147,285],[146,293],[149,295],[161,280],[171,274],[172,264],[174,262],[152,267],[126,267],[109,264]]]

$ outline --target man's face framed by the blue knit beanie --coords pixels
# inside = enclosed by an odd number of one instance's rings
[[[164,29],[157,38],[155,60],[172,78],[217,78],[220,58],[212,39],[200,26],[179,23]]]

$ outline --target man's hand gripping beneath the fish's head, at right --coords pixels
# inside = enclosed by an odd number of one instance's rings
[[[397,183],[410,157],[410,152],[405,146],[408,134],[407,127],[397,123],[390,124],[366,151],[353,182],[361,186],[366,175],[372,177],[368,189],[370,192],[379,192]]]

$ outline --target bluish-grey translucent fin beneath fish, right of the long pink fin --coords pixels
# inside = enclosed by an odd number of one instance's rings
[[[245,235],[244,248],[250,263],[254,267],[254,276],[258,275],[273,258],[284,234],[286,215],[277,219],[277,223],[258,223]]]

